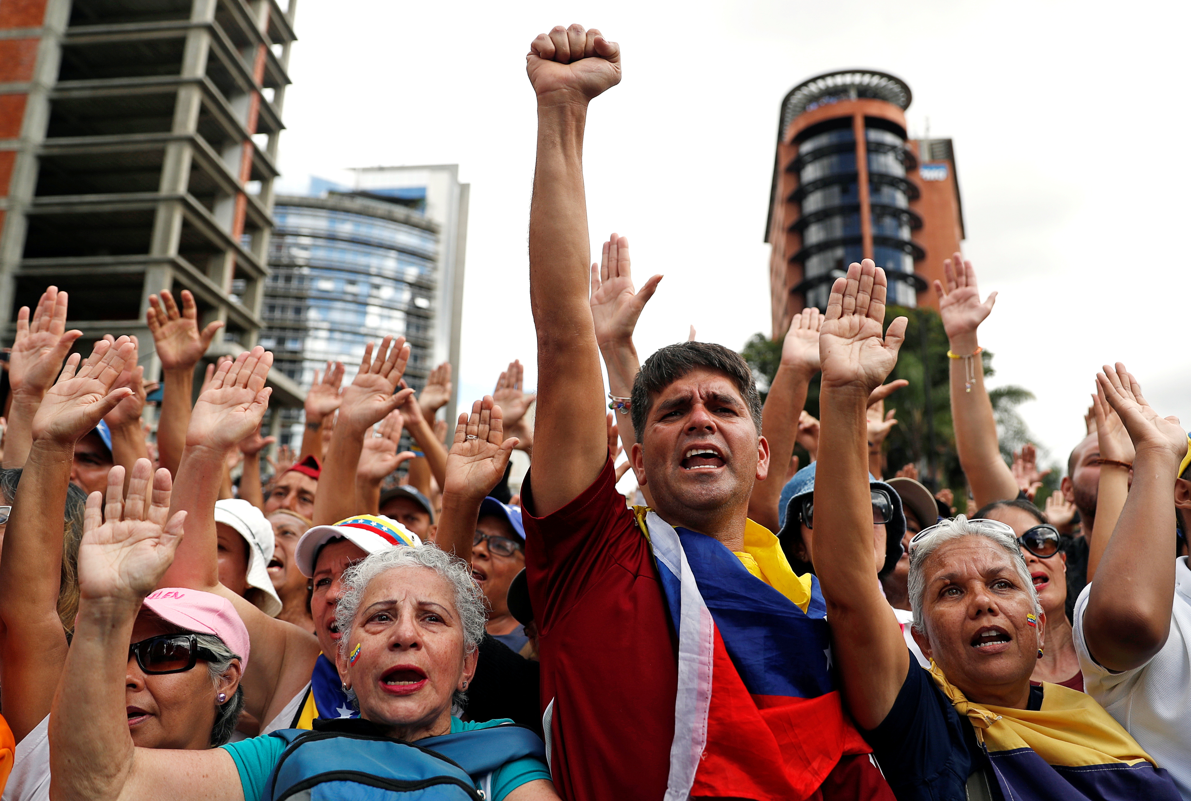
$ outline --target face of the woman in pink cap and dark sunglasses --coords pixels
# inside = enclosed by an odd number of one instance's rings
[[[173,633],[176,630],[160,618],[142,614],[132,627],[131,642]],[[218,707],[216,695],[224,693],[230,699],[238,683],[238,661],[232,662],[219,689],[216,689],[207,663],[202,659],[186,672],[145,675],[136,656],[130,656],[124,680],[124,703],[132,744],[142,749],[210,747]]]

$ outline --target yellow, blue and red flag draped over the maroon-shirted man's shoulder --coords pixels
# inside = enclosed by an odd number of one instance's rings
[[[679,640],[667,801],[815,796],[841,759],[871,751],[831,677],[818,581],[794,575],[777,537],[752,520],[744,556],[760,576],[711,537],[643,507],[636,518]],[[892,799],[875,770],[861,776],[867,756],[852,762],[838,797]]]

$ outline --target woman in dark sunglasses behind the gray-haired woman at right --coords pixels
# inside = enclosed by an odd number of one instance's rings
[[[1036,506],[1021,499],[994,501],[975,517],[999,520],[1014,530],[1039,606],[1046,613],[1046,649],[1030,677],[1084,692],[1084,674],[1067,617],[1067,555],[1061,550],[1059,530],[1047,522]]]

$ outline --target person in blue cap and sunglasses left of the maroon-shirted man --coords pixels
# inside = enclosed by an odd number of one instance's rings
[[[525,567],[525,527],[520,509],[485,498],[472,540],[472,576],[488,601],[488,633],[513,651],[529,640],[509,611],[509,586]]]

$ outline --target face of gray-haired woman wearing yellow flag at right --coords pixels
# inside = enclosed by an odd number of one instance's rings
[[[1022,582],[1010,555],[971,534],[935,549],[922,571],[927,631],[915,630],[913,638],[947,678],[977,701],[1029,681],[1046,617],[1027,621],[1034,588]]]

